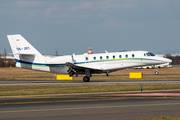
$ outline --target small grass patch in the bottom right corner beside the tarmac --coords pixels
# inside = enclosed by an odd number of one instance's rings
[[[180,116],[161,116],[159,118],[141,118],[141,119],[135,119],[135,120],[180,120]]]

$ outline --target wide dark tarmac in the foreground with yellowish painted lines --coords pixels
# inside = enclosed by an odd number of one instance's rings
[[[179,116],[180,91],[0,97],[0,119],[114,120]]]

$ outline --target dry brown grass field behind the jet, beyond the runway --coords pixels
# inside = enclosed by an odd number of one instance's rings
[[[121,81],[132,80],[129,78],[130,72],[142,72],[142,79],[134,80],[180,80],[180,67],[161,68],[159,75],[155,75],[155,69],[124,69],[105,74],[93,74],[91,81]],[[82,81],[84,75],[74,77],[73,81]],[[48,72],[32,71],[21,68],[0,68],[0,79],[2,80],[56,80],[55,74]]]

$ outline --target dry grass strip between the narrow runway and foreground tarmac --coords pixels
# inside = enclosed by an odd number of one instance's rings
[[[144,84],[143,90],[180,89],[180,84]],[[0,86],[0,96],[140,91],[141,85]]]

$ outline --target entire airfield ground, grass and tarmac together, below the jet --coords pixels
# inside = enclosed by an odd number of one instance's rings
[[[143,78],[129,79],[129,72],[143,72]],[[6,95],[0,97],[0,119],[117,120],[161,116],[170,116],[171,119],[171,116],[180,116],[180,68],[159,69],[158,76],[154,75],[154,72],[155,69],[126,69],[111,73],[108,77],[104,74],[95,75],[89,82],[91,85],[84,85],[82,76],[74,77],[73,81],[56,81],[52,73],[3,68],[0,69],[0,88],[1,93],[4,92]],[[43,83],[62,85],[43,85]],[[108,84],[103,85],[104,83]],[[39,85],[34,86],[35,84]],[[143,85],[142,92],[141,85]],[[99,86],[103,86],[106,91],[99,92]],[[28,87],[31,89],[26,89]],[[76,91],[79,87],[80,91]],[[73,88],[72,91],[76,91],[76,94],[59,92],[70,88]],[[155,91],[152,91],[152,88]],[[22,92],[33,89],[36,92],[52,89],[57,90],[57,93],[25,95]],[[82,93],[84,89],[89,91]],[[113,89],[116,91],[111,91]],[[129,91],[130,89],[133,90]],[[16,90],[17,95],[7,96],[8,92]],[[91,93],[92,90],[98,93]],[[174,118],[180,117],[172,117]]]

